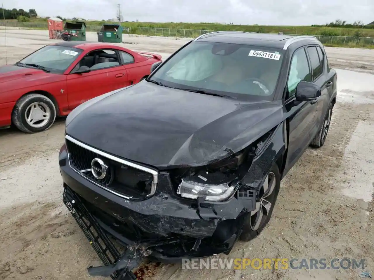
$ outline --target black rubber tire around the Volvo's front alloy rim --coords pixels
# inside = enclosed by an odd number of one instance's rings
[[[240,234],[240,237],[239,237],[239,239],[242,241],[250,241],[256,238],[261,233],[261,231],[263,231],[263,229],[266,227],[266,225],[270,221],[270,218],[272,216],[273,209],[275,206],[275,202],[278,197],[279,187],[281,186],[281,175],[279,173],[278,165],[275,163],[273,163],[272,168],[270,168],[270,171],[267,174],[267,177],[269,177],[269,181],[270,181],[270,176],[273,178],[273,180],[275,180],[273,188],[271,186],[272,184],[268,184],[268,188],[270,189],[272,188],[272,191],[270,192],[269,196],[266,196],[266,200],[262,200],[262,197],[264,196],[264,187],[263,186],[261,187],[261,190],[259,193],[259,197],[261,197],[261,199],[259,199],[256,202],[257,207],[258,207],[257,209],[260,209],[260,210],[251,211],[250,213],[247,214],[247,217],[245,218],[246,220],[242,227],[242,234]],[[264,203],[263,201],[265,202],[269,201],[271,202],[271,205],[270,205],[269,211],[266,213],[266,215],[262,216],[260,223],[258,223],[256,227],[254,226],[254,224],[256,224],[255,221],[259,220],[259,218],[257,218],[256,215],[258,215],[258,212],[260,212],[262,209],[263,209],[262,213],[266,211],[266,208],[264,208],[262,204]],[[264,204],[267,204],[267,203],[264,203]]]

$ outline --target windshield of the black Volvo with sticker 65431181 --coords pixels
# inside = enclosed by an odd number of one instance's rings
[[[246,100],[273,100],[283,50],[193,42],[150,77],[161,85]]]

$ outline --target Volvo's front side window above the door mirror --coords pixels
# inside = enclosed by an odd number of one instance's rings
[[[291,69],[288,76],[288,97],[294,96],[296,87],[300,81],[312,81],[309,71],[309,63],[304,48],[294,53],[291,60]]]

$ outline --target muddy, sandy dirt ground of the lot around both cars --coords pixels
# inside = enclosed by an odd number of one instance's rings
[[[96,34],[87,32],[88,40]],[[47,31],[7,29],[7,63],[52,40]],[[123,36],[125,47],[166,58],[188,39]],[[5,64],[0,29],[0,65]],[[134,44],[136,43],[136,44]],[[272,220],[230,258],[365,258],[374,268],[374,51],[326,47],[338,97],[325,146],[307,149],[282,181]],[[363,73],[364,72],[364,73]],[[100,261],[62,205],[58,150],[64,119],[47,131],[0,130],[0,279],[86,280]],[[222,258],[226,255],[220,256]],[[146,265],[144,279],[359,279],[360,270],[182,270]]]

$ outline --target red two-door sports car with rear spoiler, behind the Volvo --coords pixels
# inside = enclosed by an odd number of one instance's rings
[[[146,78],[153,53],[106,43],[49,44],[14,65],[0,67],[0,127],[14,124],[26,133],[48,129],[98,95]]]

